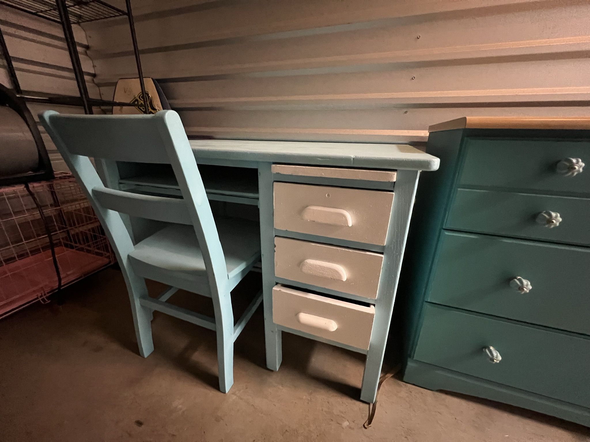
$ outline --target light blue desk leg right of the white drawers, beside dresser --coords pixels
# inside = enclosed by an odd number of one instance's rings
[[[373,403],[377,394],[383,355],[389,333],[389,324],[394,309],[395,292],[398,288],[399,271],[404,257],[408,236],[409,219],[414,207],[414,196],[418,185],[419,171],[398,170],[395,181],[394,205],[383,256],[383,272],[379,281],[379,291],[375,302],[375,319],[371,342],[365,362],[365,373],[360,390],[360,399]]]

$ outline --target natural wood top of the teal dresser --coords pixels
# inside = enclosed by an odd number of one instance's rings
[[[590,117],[461,117],[428,127],[429,132],[477,129],[588,129]]]

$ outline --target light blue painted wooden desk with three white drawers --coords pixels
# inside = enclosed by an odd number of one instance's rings
[[[215,176],[215,173],[212,174],[210,179],[204,176],[204,182],[209,199],[258,204],[260,210],[267,367],[271,370],[278,370],[280,367],[282,331],[292,332],[361,352],[366,354],[366,365],[360,398],[372,403],[375,400],[379,375],[381,374],[383,353],[394,306],[399,269],[404,253],[409,218],[414,205],[419,172],[422,170],[437,170],[438,158],[423,153],[414,147],[399,144],[192,140],[191,147],[195,153],[197,163],[200,165],[231,166],[257,170],[257,189],[253,189],[251,184],[250,187],[243,182],[240,184],[240,177],[236,177],[236,181],[233,183],[237,185],[232,189],[232,183],[228,182],[227,178],[219,179],[219,177]],[[304,168],[306,170],[304,170],[303,174],[299,173],[300,171],[291,173],[280,168],[277,169],[277,165],[318,166],[321,170],[317,169],[317,167],[307,167]],[[273,166],[275,166],[274,170]],[[326,169],[323,169],[325,167],[330,168],[329,173],[325,173]],[[359,175],[357,173],[359,169],[368,170],[368,172],[365,171]],[[393,175],[395,180],[373,179],[375,174],[372,171],[374,169],[396,171],[395,174],[388,175],[389,177]],[[379,175],[379,172],[377,175]],[[360,220],[363,216],[364,209],[360,206],[357,212],[355,212],[355,207],[347,209],[353,215],[350,217],[348,227],[331,229],[330,222],[338,224],[340,223],[339,219],[336,219],[336,221],[328,219],[327,224],[325,224],[326,220],[313,219],[307,220],[306,222],[311,224],[304,223],[304,226],[312,225],[312,227],[316,228],[317,223],[324,223],[323,226],[320,226],[320,230],[326,226],[327,230],[322,230],[323,233],[318,234],[317,232],[310,233],[307,228],[277,228],[275,209],[276,207],[283,207],[284,204],[288,206],[291,203],[291,197],[284,198],[285,193],[279,194],[276,190],[273,192],[276,183],[293,184],[294,187],[288,186],[287,189],[305,190],[306,192],[318,190],[319,186],[324,186],[319,190],[320,193],[324,192],[327,197],[333,194],[333,199],[336,199],[336,196],[342,193],[342,199],[338,204],[343,206],[347,204],[353,206],[360,204],[362,206],[362,200],[365,200],[364,203],[366,203],[366,199],[370,200],[373,196],[387,199],[389,195],[392,199],[391,209],[389,209],[389,206],[383,209],[383,207],[369,204],[369,212],[375,210],[375,213],[382,213],[383,210],[386,210],[386,217],[366,226],[368,227],[366,229],[368,233],[366,236],[359,236],[358,238],[349,235],[347,239],[347,232],[353,231],[356,228],[355,219]],[[152,186],[146,187],[146,190],[150,192],[157,192],[158,189],[164,193],[175,192],[173,183],[166,183],[165,180],[164,182],[154,182],[153,180],[152,182],[142,182],[142,179],[138,177],[129,177],[129,173],[127,173],[126,178],[120,180],[120,185],[123,187]],[[303,194],[303,199],[305,199],[306,192],[296,193],[299,196]],[[292,194],[292,196],[294,197],[296,194]],[[332,204],[332,206],[338,206],[338,204]],[[320,210],[320,212],[321,210],[331,210],[330,216],[334,213],[336,213],[336,216],[341,213],[346,215],[347,213],[339,207],[329,207],[328,209],[320,207],[320,209],[317,209],[317,206],[310,205],[307,208],[309,209],[309,207],[315,207],[314,210]],[[297,210],[294,213],[297,213]],[[371,219],[371,213],[364,213],[364,215]],[[312,214],[312,216],[315,215]],[[383,230],[383,238],[385,239],[382,243],[371,239],[373,230]],[[362,295],[353,293],[356,289],[350,290],[346,286],[346,276],[333,276],[330,274],[327,276],[325,274],[323,276],[310,276],[311,273],[317,270],[317,263],[319,262],[320,273],[326,270],[326,268],[322,268],[322,265],[324,267],[329,265],[331,266],[329,269],[336,268],[336,271],[343,269],[343,272],[348,271],[348,281],[352,283],[353,279],[355,277],[359,278],[359,273],[362,272],[356,272],[355,276],[356,269],[349,262],[346,265],[348,267],[346,267],[344,264],[340,266],[337,262],[326,263],[317,259],[307,260],[312,262],[309,267],[311,270],[306,267],[304,271],[300,272],[299,267],[297,267],[291,269],[295,272],[291,272],[291,274],[295,275],[291,278],[277,276],[275,272],[276,264],[278,265],[275,256],[276,238],[294,240],[294,242],[288,244],[303,248],[303,253],[309,252],[312,255],[314,253],[320,253],[321,255],[324,252],[344,253],[345,255],[348,253],[353,255],[353,258],[358,258],[356,262],[359,262],[358,265],[360,266],[364,266],[365,262],[368,263],[371,260],[382,263],[381,267],[376,270],[375,293],[363,293]],[[307,247],[312,248],[312,250],[309,251],[309,249],[306,249]],[[365,253],[365,255],[362,255],[362,253]],[[346,258],[343,259],[346,260]],[[308,274],[308,270],[311,272],[310,274]],[[297,275],[301,275],[303,278],[298,278]],[[312,278],[313,283],[309,283],[309,280],[306,279],[308,276]],[[323,281],[322,277],[324,277],[326,283],[317,282]],[[335,282],[334,278],[340,278],[340,280]],[[340,285],[337,286],[336,283]],[[275,290],[273,295],[273,288],[277,288],[277,285],[279,290],[278,292]],[[330,288],[334,286],[338,288]],[[280,289],[281,287],[283,289]],[[358,290],[362,292],[362,287]],[[358,290],[356,290],[356,293],[359,292]],[[276,296],[280,296],[280,298],[276,298]],[[281,302],[280,306],[274,306],[276,321],[273,320],[273,298],[280,299]],[[290,308],[296,309],[296,311],[293,311],[296,314],[293,314],[292,318],[289,316]],[[287,316],[284,316],[285,314]],[[302,314],[303,316],[301,316]],[[332,317],[330,314],[334,316]],[[283,315],[283,319],[277,319],[279,315]],[[289,321],[291,319],[295,321],[294,318],[296,317],[299,318],[299,322],[295,322],[295,325],[284,325],[291,324]],[[358,321],[363,322],[363,324]],[[277,322],[280,322],[280,324],[277,324]],[[356,328],[361,330],[363,326],[365,326],[367,334],[366,345],[359,344],[358,342],[362,341],[360,339],[362,337],[355,336],[355,334],[362,334],[361,332],[357,333]],[[353,342],[353,344],[347,344],[347,342]]]

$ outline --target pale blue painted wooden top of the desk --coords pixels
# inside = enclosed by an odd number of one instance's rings
[[[407,144],[190,140],[197,161],[235,160],[376,169],[437,170],[439,160]]]

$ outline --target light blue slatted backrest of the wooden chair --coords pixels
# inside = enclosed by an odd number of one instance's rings
[[[201,174],[182,121],[175,111],[117,116],[60,115],[46,111],[40,114],[40,120],[93,205],[122,267],[127,268],[127,255],[133,250],[120,215],[126,213],[193,225],[211,290],[215,291],[213,284],[222,278],[227,279],[223,250]],[[105,187],[89,157],[171,164],[183,198],[150,196]]]

